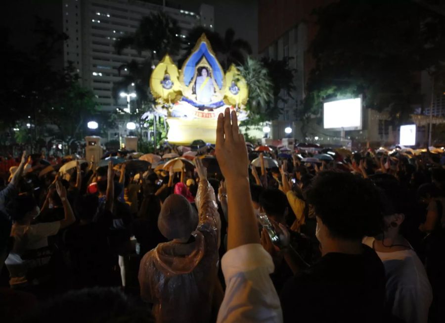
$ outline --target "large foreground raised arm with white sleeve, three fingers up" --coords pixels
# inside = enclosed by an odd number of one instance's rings
[[[247,148],[236,113],[218,116],[216,154],[227,187],[228,238],[222,259],[226,283],[218,323],[282,322],[281,305],[270,280],[272,258],[260,244],[250,198]]]

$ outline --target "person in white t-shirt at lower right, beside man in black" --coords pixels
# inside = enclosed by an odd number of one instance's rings
[[[401,234],[405,194],[395,178],[380,177],[374,183],[382,189],[383,232],[365,237],[363,243],[376,251],[385,267],[386,309],[405,323],[426,323],[433,292],[422,262]]]

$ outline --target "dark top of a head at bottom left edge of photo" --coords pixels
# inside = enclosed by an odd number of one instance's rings
[[[139,308],[118,288],[90,288],[70,291],[53,300],[42,302],[26,313],[20,323],[151,323],[151,314]]]

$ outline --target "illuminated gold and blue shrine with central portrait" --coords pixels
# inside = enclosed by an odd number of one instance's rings
[[[224,74],[205,34],[180,70],[164,56],[151,74],[150,90],[156,113],[167,117],[172,143],[215,143],[218,115],[227,107],[235,109],[239,121],[247,118],[246,81],[233,64]]]

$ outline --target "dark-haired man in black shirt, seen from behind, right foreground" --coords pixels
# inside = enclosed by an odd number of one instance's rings
[[[361,243],[381,225],[379,195],[350,173],[321,172],[308,191],[315,209],[322,257],[295,270],[281,291],[284,322],[382,322],[385,272]]]

